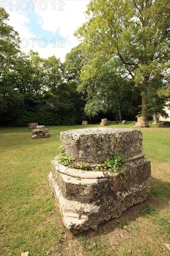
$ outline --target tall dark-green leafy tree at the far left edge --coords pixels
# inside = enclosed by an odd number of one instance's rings
[[[14,107],[23,99],[13,88],[11,72],[16,68],[17,55],[20,52],[19,34],[7,24],[9,15],[0,7],[0,111]]]

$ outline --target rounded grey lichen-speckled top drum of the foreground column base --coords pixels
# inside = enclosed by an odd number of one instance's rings
[[[137,129],[92,128],[60,133],[65,153],[76,161],[102,163],[113,151],[125,157],[142,152],[142,133]]]

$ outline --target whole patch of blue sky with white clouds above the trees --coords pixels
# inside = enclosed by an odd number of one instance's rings
[[[19,32],[21,48],[38,51],[41,57],[53,54],[64,61],[65,54],[78,45],[74,30],[85,22],[90,0],[0,0],[10,14],[9,25]]]

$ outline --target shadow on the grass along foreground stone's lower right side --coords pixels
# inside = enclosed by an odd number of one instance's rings
[[[85,237],[100,236],[101,233],[106,235],[113,232],[116,228],[124,229],[124,225],[135,222],[140,217],[149,218],[150,216],[155,216],[160,210],[168,209],[169,198],[170,184],[150,177],[150,194],[146,201],[131,206],[120,217],[98,225],[97,230],[88,230],[82,232],[81,235]]]

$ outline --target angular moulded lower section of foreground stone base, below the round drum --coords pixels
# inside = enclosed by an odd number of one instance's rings
[[[48,175],[66,228],[97,229],[98,224],[118,218],[133,204],[146,200],[149,191],[150,161],[141,158],[124,164],[126,174],[88,172],[67,168],[54,158]]]

